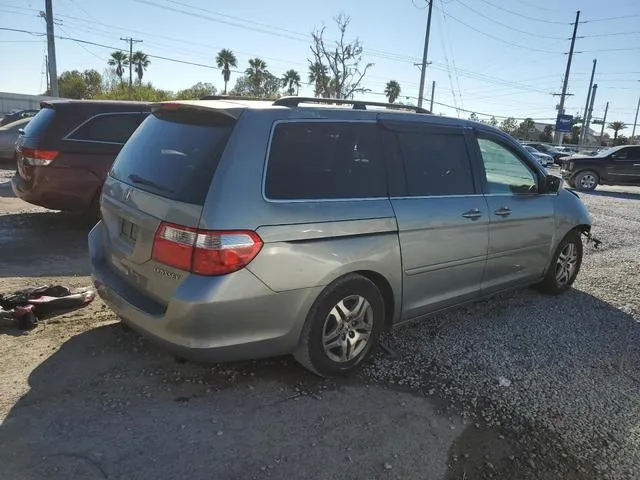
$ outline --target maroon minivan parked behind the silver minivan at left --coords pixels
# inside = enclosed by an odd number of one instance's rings
[[[16,142],[14,193],[53,210],[97,213],[107,172],[148,112],[143,102],[42,103]]]

